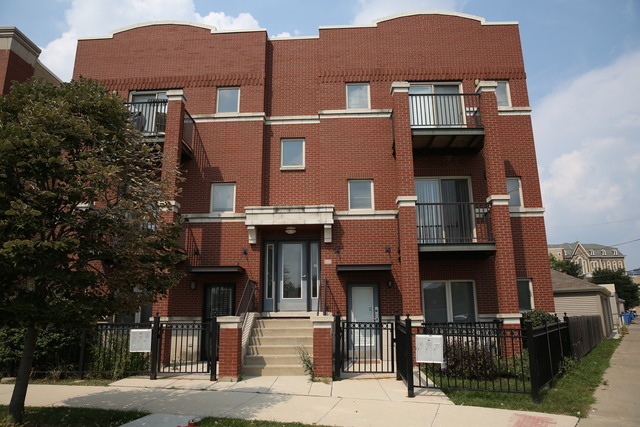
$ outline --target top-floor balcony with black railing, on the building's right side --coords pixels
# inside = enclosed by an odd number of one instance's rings
[[[478,94],[409,95],[414,150],[477,152],[484,145]]]

